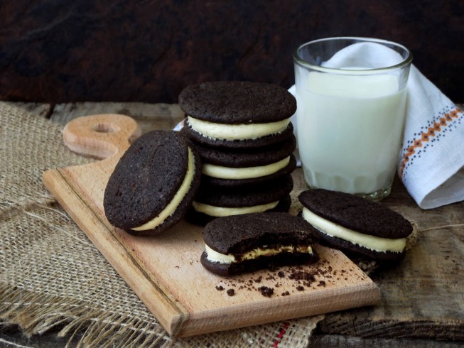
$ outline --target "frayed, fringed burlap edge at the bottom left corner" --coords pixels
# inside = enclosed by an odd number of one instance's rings
[[[80,300],[56,298],[0,283],[0,318],[21,327],[25,335],[58,328],[69,337],[66,347],[167,347],[163,330],[132,316],[89,310]],[[75,339],[79,336],[80,338]]]

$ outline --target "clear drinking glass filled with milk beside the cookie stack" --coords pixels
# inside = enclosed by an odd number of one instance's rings
[[[399,162],[411,52],[373,38],[325,38],[293,54],[296,136],[306,183],[381,200]]]

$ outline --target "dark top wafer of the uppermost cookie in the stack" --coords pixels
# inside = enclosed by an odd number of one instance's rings
[[[195,119],[221,124],[281,121],[296,112],[296,99],[283,87],[248,81],[192,85],[180,92],[179,104]]]

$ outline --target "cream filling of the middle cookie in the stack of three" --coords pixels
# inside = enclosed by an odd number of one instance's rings
[[[284,158],[283,160],[271,163],[267,165],[259,165],[257,167],[247,167],[247,168],[230,168],[223,167],[222,165],[214,165],[209,163],[204,163],[202,168],[202,173],[212,178],[220,179],[251,179],[251,178],[260,178],[261,176],[271,175],[277,171],[285,168],[288,163],[290,163],[290,156]]]

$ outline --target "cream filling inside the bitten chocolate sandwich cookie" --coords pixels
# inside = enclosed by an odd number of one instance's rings
[[[212,262],[219,262],[219,263],[232,263],[237,262],[237,259],[232,254],[221,254],[215,250],[212,250],[209,246],[205,244],[205,251],[206,251],[206,258]],[[252,249],[247,251],[240,257],[240,261],[245,260],[254,260],[257,259],[259,256],[273,256],[277,254],[281,254],[284,252],[293,253],[308,253],[313,254],[313,248],[311,246],[279,246],[279,248],[274,249],[266,249],[266,246],[262,248]]]

